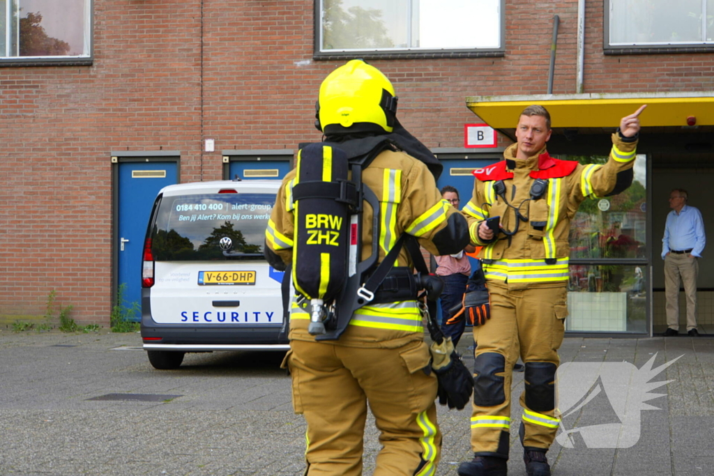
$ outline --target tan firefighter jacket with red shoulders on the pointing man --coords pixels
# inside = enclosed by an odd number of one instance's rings
[[[506,149],[503,154],[506,160],[473,172],[476,176],[473,196],[461,212],[468,220],[471,242],[484,246],[479,258],[483,259],[487,280],[506,282],[516,289],[565,285],[570,220],[585,198],[607,196],[618,183],[625,183],[623,190],[629,186],[631,175],[625,176],[632,173],[637,140],[623,140],[619,133],[613,133],[607,163],[589,165],[553,159],[545,148],[526,161],[518,160],[517,146],[513,144]],[[531,200],[531,186],[536,178],[547,179],[548,185],[541,198]],[[503,196],[496,195],[498,181],[506,186]],[[518,208],[527,221],[516,218],[516,211],[506,201]],[[510,240],[501,232],[492,243],[484,243],[478,238],[478,225],[495,216],[501,217],[501,228],[513,232],[518,226],[518,231]]]

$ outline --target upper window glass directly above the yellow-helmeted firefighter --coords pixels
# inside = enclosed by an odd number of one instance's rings
[[[318,54],[501,49],[502,0],[317,0]]]

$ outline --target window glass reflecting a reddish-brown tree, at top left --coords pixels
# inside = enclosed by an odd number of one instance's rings
[[[0,61],[91,56],[91,0],[0,0]]]

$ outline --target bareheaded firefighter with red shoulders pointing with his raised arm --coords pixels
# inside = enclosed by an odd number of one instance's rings
[[[474,458],[461,463],[458,475],[506,475],[512,424],[519,426],[528,475],[550,475],[545,453],[560,425],[554,382],[568,315],[570,220],[585,198],[614,195],[630,186],[638,116],[645,107],[620,120],[607,163],[583,166],[548,155],[550,114],[543,106],[529,106],[518,119],[517,143],[503,154],[506,160],[473,172],[473,197],[462,213],[471,242],[485,246],[479,255],[485,283],[472,276],[463,298],[478,347]],[[526,366],[523,414],[520,422],[511,422],[511,369],[519,356]]]

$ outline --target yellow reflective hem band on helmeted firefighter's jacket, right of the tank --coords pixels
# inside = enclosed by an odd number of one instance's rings
[[[364,328],[424,332],[416,301],[366,305],[352,315],[350,325]]]

